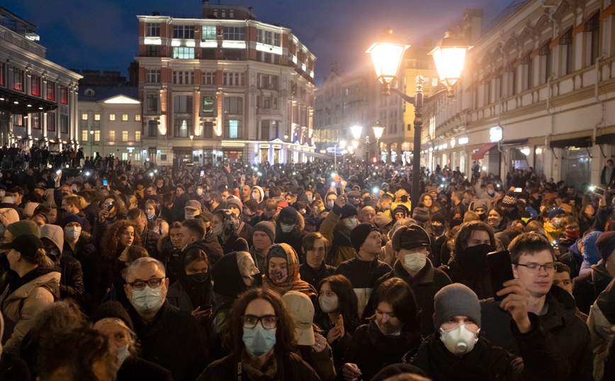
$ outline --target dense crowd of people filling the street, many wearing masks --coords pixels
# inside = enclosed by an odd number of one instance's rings
[[[0,380],[615,380],[612,162],[77,167],[0,179]]]

